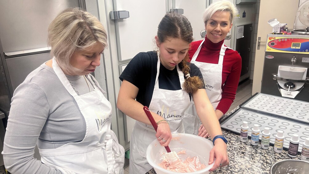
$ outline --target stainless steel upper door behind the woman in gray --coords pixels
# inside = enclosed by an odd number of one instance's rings
[[[12,56],[49,50],[47,28],[56,15],[67,7],[80,7],[79,1],[1,1],[0,38],[3,52]]]

